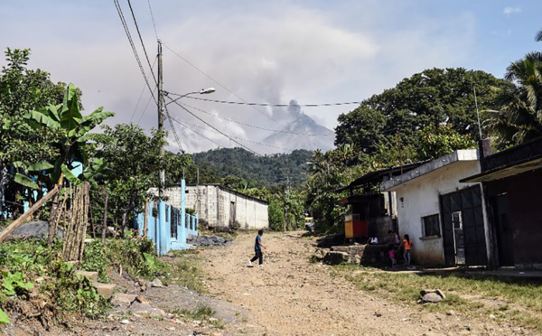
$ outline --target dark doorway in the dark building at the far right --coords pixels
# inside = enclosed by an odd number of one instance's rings
[[[503,193],[492,197],[491,203],[495,214],[499,266],[514,266],[513,232],[509,223],[508,194]]]

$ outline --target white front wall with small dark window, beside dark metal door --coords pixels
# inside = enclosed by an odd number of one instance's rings
[[[397,219],[401,239],[408,234],[414,243],[411,252],[418,265],[444,265],[443,226],[440,219],[439,196],[468,188],[478,183],[459,180],[480,173],[478,161],[458,161],[425,173],[397,186]],[[441,238],[423,237],[422,217],[439,214]],[[484,221],[485,220],[484,210]]]

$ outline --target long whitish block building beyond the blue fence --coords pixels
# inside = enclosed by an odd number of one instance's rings
[[[173,207],[181,207],[181,187],[164,191]],[[210,228],[268,229],[268,203],[219,184],[186,186],[186,208],[196,210]]]

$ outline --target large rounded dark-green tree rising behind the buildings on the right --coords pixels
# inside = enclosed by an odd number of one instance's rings
[[[380,145],[397,144],[417,148],[425,126],[451,125],[459,135],[478,137],[478,119],[473,87],[481,109],[494,108],[494,88],[505,81],[475,70],[430,69],[403,79],[395,88],[386,89],[364,100],[360,107],[339,117],[335,145],[360,146],[366,154]],[[395,145],[397,147],[397,145]]]

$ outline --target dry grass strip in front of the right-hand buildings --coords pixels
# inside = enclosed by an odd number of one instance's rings
[[[417,302],[420,290],[439,288],[446,294],[446,299],[439,304],[423,304],[422,309],[435,313],[454,310],[478,317],[493,313],[498,320],[509,320],[542,331],[541,280],[463,272],[383,272],[364,266],[336,266],[332,275],[343,276],[360,290],[408,304]]]

